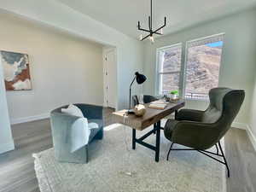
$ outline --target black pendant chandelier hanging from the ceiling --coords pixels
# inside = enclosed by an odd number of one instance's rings
[[[141,28],[140,21],[137,23],[137,29],[139,31],[148,32],[149,34],[143,38],[143,34],[141,34],[140,40],[143,41],[144,39],[148,38],[152,43],[154,43],[154,34],[162,35],[163,34],[163,28],[166,26],[166,17],[165,17],[165,24],[163,26],[160,26],[158,29],[153,30],[153,22],[152,22],[152,0],[150,0],[150,16],[148,16],[148,29]]]

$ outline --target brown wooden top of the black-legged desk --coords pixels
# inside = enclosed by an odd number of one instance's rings
[[[116,123],[124,124],[130,126],[133,129],[138,131],[143,131],[148,126],[153,125],[160,121],[160,119],[165,118],[167,115],[175,112],[179,108],[183,108],[185,102],[179,101],[177,103],[168,103],[166,108],[164,109],[154,109],[148,108],[149,103],[143,104],[146,108],[146,113],[143,117],[137,117],[135,114],[126,114],[127,110],[121,110],[117,112],[113,112],[113,120]],[[124,120],[125,118],[125,120]]]

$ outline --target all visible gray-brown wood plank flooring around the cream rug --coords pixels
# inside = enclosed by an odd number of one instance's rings
[[[106,125],[111,124],[111,112],[105,109]],[[15,151],[0,154],[0,192],[38,192],[32,154],[52,147],[49,119],[13,125],[12,131]],[[231,168],[227,192],[256,192],[256,153],[246,131],[231,129],[225,151]]]

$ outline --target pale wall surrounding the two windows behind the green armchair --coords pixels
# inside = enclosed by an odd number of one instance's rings
[[[236,118],[236,126],[245,128],[253,95],[253,82],[256,70],[256,11],[250,10],[241,14],[230,15],[222,20],[207,22],[200,26],[157,38],[155,44],[144,44],[144,73],[148,82],[144,84],[144,92],[154,94],[156,49],[195,38],[225,32],[222,64],[220,67],[219,85],[233,89],[246,90],[246,99]],[[184,53],[184,51],[183,51]],[[205,109],[207,102],[187,101],[187,108]]]

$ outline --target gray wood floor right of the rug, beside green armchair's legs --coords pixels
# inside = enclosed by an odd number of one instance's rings
[[[225,136],[225,153],[231,169],[228,191],[256,191],[256,153],[247,132],[230,130]]]

